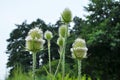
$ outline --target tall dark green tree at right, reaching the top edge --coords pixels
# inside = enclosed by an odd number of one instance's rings
[[[102,80],[118,80],[120,71],[120,2],[90,0],[85,9],[86,26],[81,30],[89,47],[85,73]],[[86,34],[84,34],[86,33]]]

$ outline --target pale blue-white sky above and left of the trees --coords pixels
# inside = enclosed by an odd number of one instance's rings
[[[88,0],[0,0],[0,80],[5,80],[8,75],[6,40],[16,28],[15,24],[21,24],[25,20],[31,23],[38,18],[46,24],[54,24],[65,8],[72,11],[73,17],[84,18],[88,14],[84,6],[88,3]]]

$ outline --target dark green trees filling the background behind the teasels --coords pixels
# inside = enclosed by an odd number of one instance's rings
[[[74,27],[70,30],[66,54],[66,73],[77,76],[77,63],[71,58],[70,48],[75,38],[82,37],[87,41],[89,48],[88,58],[82,62],[82,74],[91,76],[92,80],[119,80],[120,79],[120,2],[115,0],[90,0],[85,10],[89,13],[85,19],[74,17]],[[7,67],[11,67],[9,78],[14,76],[16,64],[20,64],[26,74],[32,68],[32,55],[25,51],[25,37],[30,29],[42,28],[45,32],[50,30],[54,34],[51,41],[52,69],[56,69],[59,59],[58,28],[62,24],[59,20],[56,24],[46,24],[37,19],[31,24],[24,21],[16,24],[16,29],[10,33],[6,53],[9,54]],[[40,60],[42,59],[42,62]],[[43,66],[48,66],[47,44],[44,50],[37,54],[37,75],[45,76]],[[59,70],[61,71],[61,70]],[[41,79],[42,80],[42,79]],[[43,79],[44,80],[44,79]]]

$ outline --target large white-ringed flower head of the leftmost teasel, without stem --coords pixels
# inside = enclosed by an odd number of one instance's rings
[[[26,49],[31,52],[38,52],[43,48],[43,31],[39,28],[31,29],[26,37]]]

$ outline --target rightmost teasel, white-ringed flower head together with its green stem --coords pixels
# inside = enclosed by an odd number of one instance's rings
[[[82,38],[77,38],[72,44],[72,57],[78,61],[78,80],[81,80],[81,63],[82,59],[87,58],[87,51],[86,42]]]

